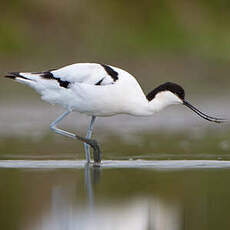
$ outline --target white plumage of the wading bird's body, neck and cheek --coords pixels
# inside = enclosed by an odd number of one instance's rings
[[[59,104],[67,110],[90,116],[130,114],[149,116],[170,104],[181,100],[170,91],[161,92],[148,101],[137,80],[128,72],[112,67],[118,73],[114,80],[100,64],[79,63],[50,71],[61,81],[70,83],[61,87],[55,79],[42,78],[42,73],[20,73],[18,82],[34,88],[41,98],[51,104]],[[101,81],[100,85],[95,85]]]

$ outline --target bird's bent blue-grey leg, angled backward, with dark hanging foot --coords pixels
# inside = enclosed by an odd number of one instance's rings
[[[94,158],[94,162],[95,163],[100,163],[101,162],[101,151],[100,151],[100,148],[99,148],[99,145],[97,143],[96,140],[93,140],[93,139],[90,139],[90,138],[84,138],[84,137],[81,137],[81,136],[78,136],[77,134],[74,134],[74,133],[70,133],[70,132],[67,132],[65,130],[62,130],[62,129],[59,129],[56,127],[56,125],[62,121],[64,119],[64,117],[66,117],[67,115],[69,115],[71,113],[71,111],[67,110],[66,112],[64,112],[61,116],[59,116],[55,121],[53,121],[51,124],[50,124],[50,128],[51,130],[53,130],[54,132],[58,133],[58,134],[61,134],[63,136],[67,136],[67,137],[71,137],[73,139],[78,139],[82,142],[85,142],[87,143],[88,145],[90,145],[92,148],[93,148],[93,158]],[[95,118],[92,119],[95,121]],[[91,123],[93,125],[94,121],[91,120]],[[90,123],[90,124],[91,124]],[[91,126],[92,126],[91,125]],[[90,126],[89,126],[90,128]],[[90,128],[91,130],[92,128]],[[92,133],[92,130],[91,130],[91,133]],[[91,133],[90,133],[90,136],[91,136]],[[87,158],[87,161],[88,161],[88,158]]]

